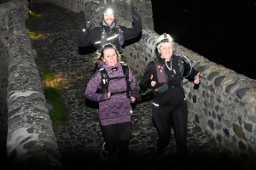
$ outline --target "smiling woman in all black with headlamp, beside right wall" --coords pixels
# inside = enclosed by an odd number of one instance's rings
[[[173,127],[177,144],[177,160],[185,166],[187,158],[188,106],[183,90],[183,77],[200,83],[200,72],[173,54],[172,37],[162,34],[156,40],[157,59],[149,62],[139,86],[154,89],[152,116],[160,135],[157,141],[157,161],[163,160],[164,150],[171,140]],[[182,69],[181,69],[182,68]]]

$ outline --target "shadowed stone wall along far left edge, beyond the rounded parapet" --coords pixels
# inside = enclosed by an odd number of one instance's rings
[[[8,85],[8,42],[9,42],[9,11],[18,8],[24,11],[23,17],[27,16],[26,0],[1,0],[0,1],[0,163],[3,165],[6,158],[7,139],[7,85]]]

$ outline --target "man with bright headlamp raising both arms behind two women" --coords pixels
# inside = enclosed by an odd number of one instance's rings
[[[126,40],[138,37],[143,30],[141,17],[133,11],[133,27],[118,26],[114,21],[112,8],[104,8],[103,20],[99,27],[90,31],[91,24],[88,21],[79,37],[79,47],[95,46],[98,51],[106,44],[113,43],[119,54],[122,54],[122,45]]]

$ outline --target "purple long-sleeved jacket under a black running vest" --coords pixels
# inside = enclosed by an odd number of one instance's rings
[[[113,66],[101,65],[108,72],[108,77],[123,77],[122,65],[118,62],[118,71],[112,71]],[[131,96],[137,97],[137,87],[129,68],[129,82],[131,84]],[[126,93],[115,94],[108,98],[108,94],[96,94],[97,89],[102,88],[102,75],[99,70],[90,78],[85,91],[85,97],[93,101],[99,101],[99,117],[102,126],[117,124],[121,122],[131,122],[131,99],[127,98]],[[112,93],[126,91],[125,78],[113,79],[109,82],[108,91]]]

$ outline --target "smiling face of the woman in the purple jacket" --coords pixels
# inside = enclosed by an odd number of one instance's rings
[[[103,51],[102,60],[109,66],[117,65],[118,57],[114,48],[107,48]]]

